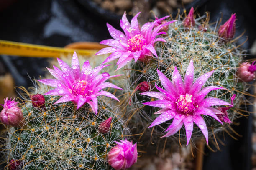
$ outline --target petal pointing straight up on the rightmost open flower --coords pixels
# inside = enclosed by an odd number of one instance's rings
[[[184,77],[184,88],[185,92],[188,93],[194,81],[194,64],[191,59],[189,62],[189,66],[187,67],[187,71]]]

